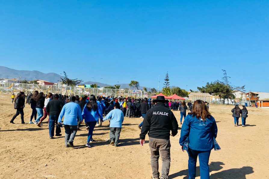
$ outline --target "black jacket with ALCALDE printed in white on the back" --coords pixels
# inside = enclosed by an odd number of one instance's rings
[[[145,139],[147,132],[152,138],[169,139],[170,131],[172,135],[178,133],[178,121],[173,112],[166,108],[165,104],[159,102],[147,111],[140,139]]]

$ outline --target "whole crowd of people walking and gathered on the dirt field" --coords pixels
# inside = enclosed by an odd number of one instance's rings
[[[186,150],[189,156],[189,178],[196,176],[196,161],[199,157],[201,178],[209,178],[209,156],[213,148],[216,148],[217,125],[214,117],[209,113],[209,104],[202,100],[196,100],[193,104],[189,101],[168,101],[163,96],[157,99],[134,99],[131,97],[113,96],[65,96],[61,94],[45,95],[35,91],[27,96],[23,92],[12,95],[12,103],[17,110],[10,123],[21,115],[21,123],[24,124],[23,108],[25,99],[31,105],[32,115],[29,123],[41,127],[42,121],[49,116],[49,135],[54,138],[61,136],[61,128],[65,130],[65,147],[74,147],[76,132],[85,120],[88,138],[86,147],[91,147],[94,142],[93,131],[96,126],[102,126],[102,122],[110,123],[110,144],[115,147],[119,144],[120,132],[124,117],[141,117],[139,124],[141,129],[140,144],[145,143],[145,136],[149,135],[149,147],[151,151],[151,167],[153,179],[167,179],[170,168],[170,136],[178,133],[178,122],[172,110],[180,111],[181,136],[179,144],[182,151]],[[186,115],[186,111],[190,112]],[[248,111],[245,106],[241,110],[238,105],[232,109],[235,126],[241,114],[242,124],[246,125]],[[184,122],[182,123],[184,117]],[[63,120],[64,118],[64,120]],[[32,121],[32,119],[35,119]],[[62,125],[63,120],[63,125]],[[162,158],[162,173],[159,173],[159,157]]]

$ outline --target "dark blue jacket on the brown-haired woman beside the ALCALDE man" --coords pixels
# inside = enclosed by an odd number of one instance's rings
[[[213,137],[217,138],[218,128],[214,117],[202,119],[187,115],[181,128],[179,144],[189,137],[189,147],[192,150],[208,151],[214,148]]]

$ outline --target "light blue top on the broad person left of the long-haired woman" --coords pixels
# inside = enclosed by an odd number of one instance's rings
[[[58,123],[62,121],[63,116],[64,116],[63,120],[64,125],[76,126],[78,125],[77,119],[79,119],[80,121],[83,120],[80,106],[75,102],[69,102],[63,106],[63,109],[58,118]]]

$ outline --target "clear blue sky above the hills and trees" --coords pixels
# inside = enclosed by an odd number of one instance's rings
[[[151,88],[160,75],[160,89],[166,71],[171,86],[196,89],[225,69],[233,85],[269,92],[268,9],[262,0],[1,1],[0,65]]]

